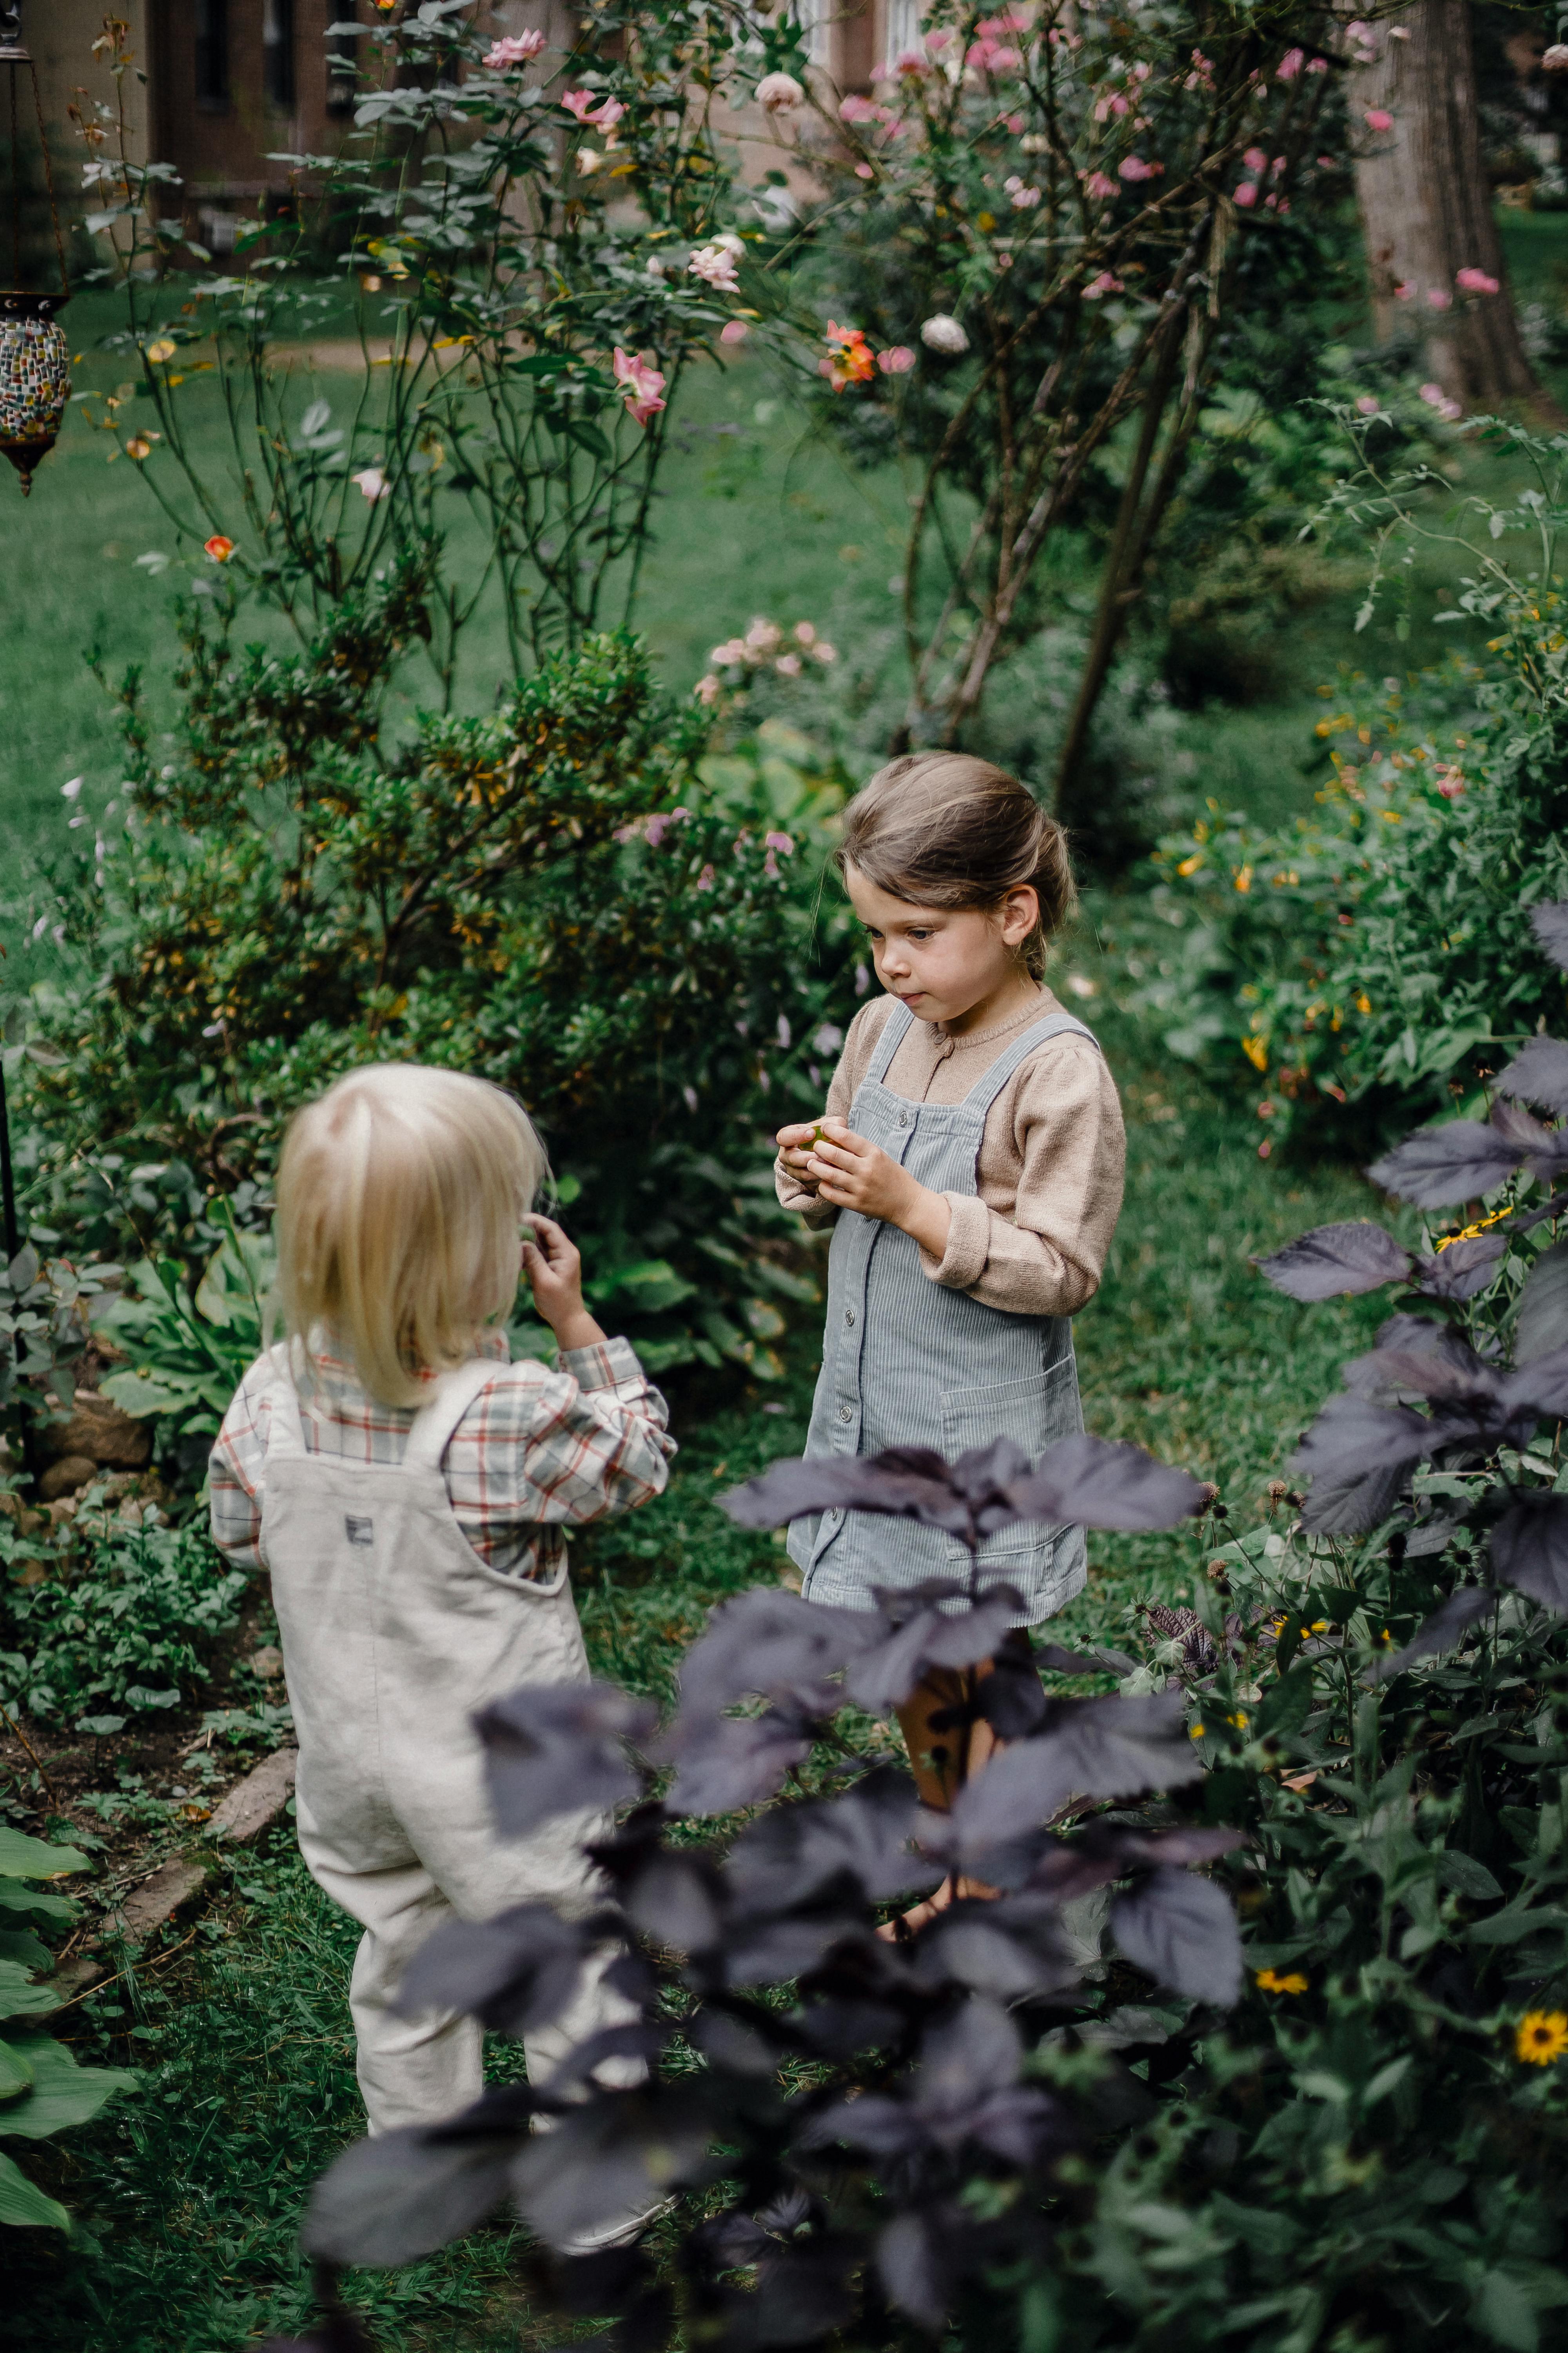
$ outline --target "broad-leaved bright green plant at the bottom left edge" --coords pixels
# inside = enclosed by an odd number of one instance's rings
[[[0,1826],[0,2141],[54,2139],[56,2132],[87,2125],[115,2092],[134,2092],[141,2082],[125,2068],[78,2066],[63,2042],[42,2033],[42,2021],[61,2007],[61,1998],[35,1984],[35,1977],[54,1965],[54,1953],[21,1922],[63,1927],[75,1920],[71,1897],[35,1885],[73,1871],[87,1871],[87,1857],[75,1847]],[[66,2207],[40,2191],[5,2151],[0,2224],[71,2231]]]

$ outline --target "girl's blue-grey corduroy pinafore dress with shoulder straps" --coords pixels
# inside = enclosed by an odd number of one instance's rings
[[[1098,1045],[1072,1014],[1023,1031],[961,1104],[914,1104],[886,1085],[914,1014],[900,1005],[849,1106],[858,1136],[879,1144],[933,1193],[976,1193],[985,1115],[1034,1047],[1072,1033]],[[1011,1315],[922,1271],[919,1242],[877,1217],[839,1209],[827,1254],[827,1329],[806,1454],[879,1454],[884,1447],[966,1447],[1013,1438],[1039,1457],[1084,1428],[1067,1315]],[[825,1511],[797,1520],[790,1555],[806,1600],[870,1609],[872,1586],[964,1577],[969,1553],[940,1527]],[[1086,1574],[1081,1527],[1006,1527],[980,1546],[980,1586],[1023,1593],[1020,1626],[1051,1617]]]

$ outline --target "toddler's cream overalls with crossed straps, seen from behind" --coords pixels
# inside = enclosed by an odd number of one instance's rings
[[[510,1904],[597,1899],[581,1842],[599,1817],[501,1840],[473,1729],[477,1708],[524,1682],[588,1682],[588,1659],[564,1562],[541,1584],[489,1569],[447,1497],[442,1454],[494,1360],[437,1379],[402,1464],[353,1464],[308,1452],[284,1348],[273,1358],[261,1560],[299,1734],[299,1847],[364,1922],[348,2000],[369,2125],[390,2132],[451,2115],[484,2089],[473,2019],[390,2007],[425,1937],[454,1913],[484,1920]],[[630,2014],[597,1974],[555,2026],[524,2035],[536,2085],[576,2042]]]

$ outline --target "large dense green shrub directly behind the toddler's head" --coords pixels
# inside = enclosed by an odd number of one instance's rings
[[[788,732],[712,760],[708,715],[628,638],[494,718],[383,741],[418,593],[388,576],[294,656],[235,647],[230,600],[193,605],[181,758],[153,760],[127,689],[134,816],[56,875],[73,979],[33,995],[61,1056],[26,1078],[40,1184],[78,1231],[150,1247],[115,1311],[150,1386],[120,1377],[120,1402],[162,1409],[162,1384],[188,1431],[254,1334],[252,1242],[216,1195],[266,1214],[287,1113],[360,1061],[522,1094],[595,1306],[654,1367],[766,1372],[780,1301],[811,1297],[759,1247],[788,1235],[759,1129],[820,1099],[837,1042],[813,1042],[846,993],[846,925],[816,913],[837,781]],[[195,1297],[195,1268],[153,1264],[214,1245]]]

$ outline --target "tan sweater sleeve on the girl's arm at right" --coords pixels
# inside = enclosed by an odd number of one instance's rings
[[[947,1247],[940,1259],[922,1249],[919,1264],[933,1282],[1013,1315],[1077,1315],[1100,1287],[1126,1167],[1117,1082],[1086,1040],[1051,1040],[1030,1056],[1013,1144],[1023,1160],[1013,1217],[976,1193],[945,1193]]]

